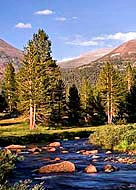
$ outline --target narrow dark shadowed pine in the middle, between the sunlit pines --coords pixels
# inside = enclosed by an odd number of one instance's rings
[[[80,120],[80,97],[75,85],[72,85],[69,89],[69,101],[68,101],[69,121],[72,125],[78,125]]]

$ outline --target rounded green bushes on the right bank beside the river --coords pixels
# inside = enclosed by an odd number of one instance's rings
[[[117,151],[136,150],[136,125],[111,125],[98,128],[90,143]]]

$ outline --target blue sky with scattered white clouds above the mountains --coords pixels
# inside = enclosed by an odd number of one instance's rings
[[[136,38],[136,0],[0,0],[0,38],[19,49],[44,29],[56,60]]]

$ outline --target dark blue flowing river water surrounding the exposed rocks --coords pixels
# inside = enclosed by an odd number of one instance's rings
[[[45,182],[47,190],[136,190],[136,164],[120,164],[105,162],[108,157],[103,150],[97,154],[100,156],[98,162],[92,162],[92,156],[84,156],[77,153],[79,150],[91,150],[94,147],[87,144],[86,139],[61,141],[68,154],[62,154],[59,150],[55,153],[41,152],[34,155],[24,152],[24,161],[17,164],[13,171],[11,182],[24,179],[31,179],[33,183]],[[123,154],[112,154],[112,156],[127,156]],[[35,169],[43,165],[51,164],[45,158],[54,159],[60,157],[61,160],[71,161],[76,166],[76,172],[72,174],[38,174]],[[84,169],[89,164],[95,165],[99,172],[96,174],[86,174]],[[120,168],[119,171],[105,173],[105,164],[112,164]]]

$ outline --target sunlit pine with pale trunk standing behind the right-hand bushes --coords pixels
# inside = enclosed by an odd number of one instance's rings
[[[118,113],[118,106],[125,94],[122,77],[111,63],[107,62],[101,70],[97,88],[108,116],[108,124],[111,124],[113,117]]]

